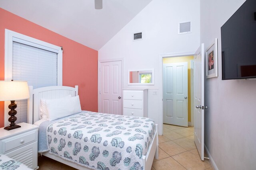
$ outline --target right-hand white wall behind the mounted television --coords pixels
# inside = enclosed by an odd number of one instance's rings
[[[256,80],[221,80],[220,27],[245,0],[200,0],[201,43],[218,38],[218,78],[205,80],[205,145],[219,170],[256,168]]]

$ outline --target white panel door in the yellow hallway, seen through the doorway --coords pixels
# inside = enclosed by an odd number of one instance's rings
[[[164,123],[188,127],[188,63],[163,64]]]

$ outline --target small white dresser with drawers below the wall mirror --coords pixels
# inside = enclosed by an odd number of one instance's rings
[[[123,115],[148,117],[148,89],[123,89]]]

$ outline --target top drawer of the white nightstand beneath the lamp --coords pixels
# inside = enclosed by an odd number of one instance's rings
[[[37,129],[8,137],[1,141],[3,153],[31,142],[37,141]]]

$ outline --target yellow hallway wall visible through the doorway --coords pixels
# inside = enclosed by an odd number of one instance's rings
[[[184,57],[169,57],[163,58],[163,64],[168,63],[181,63],[181,62],[188,62],[188,121],[191,122],[191,66],[190,60],[193,60],[194,56],[184,56]]]

